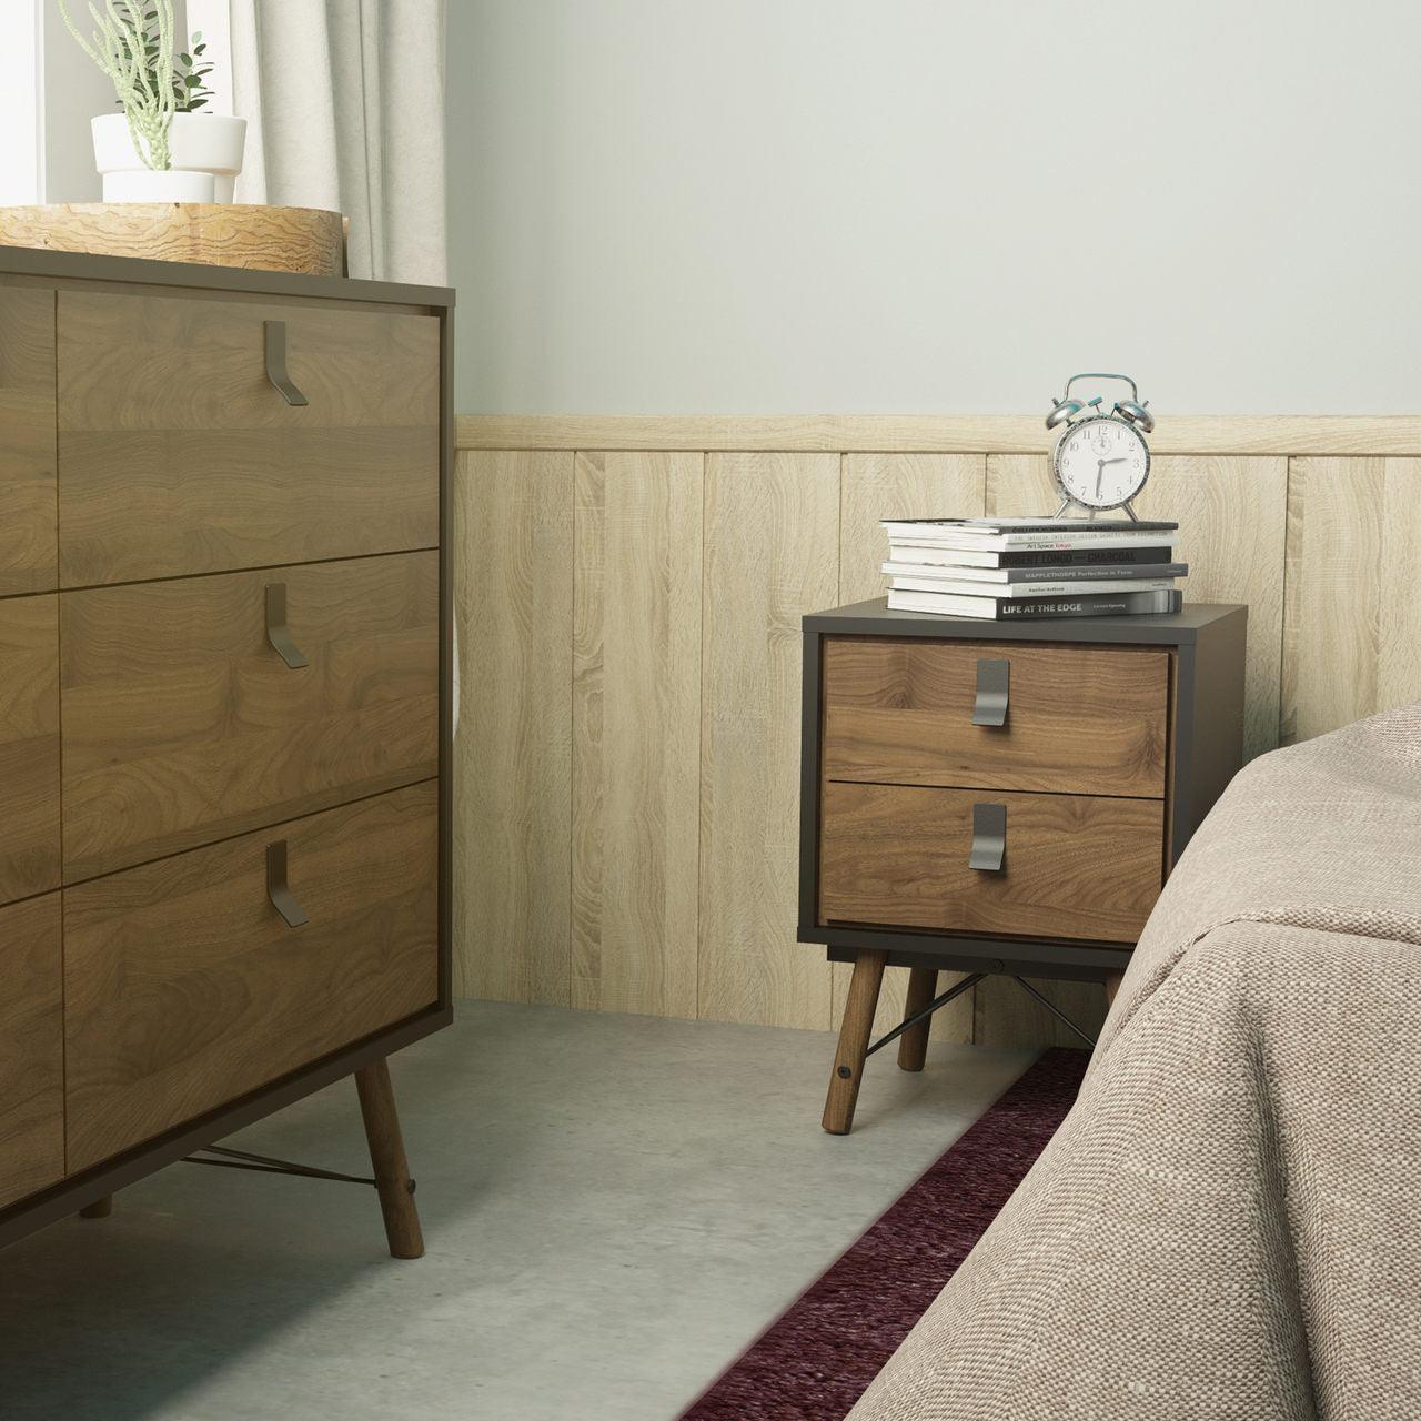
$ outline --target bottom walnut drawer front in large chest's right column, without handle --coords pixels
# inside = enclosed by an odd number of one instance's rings
[[[267,898],[284,840],[290,928]],[[64,892],[70,1172],[438,999],[433,783]]]

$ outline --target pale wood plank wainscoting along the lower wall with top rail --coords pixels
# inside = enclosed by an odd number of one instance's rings
[[[459,992],[837,1029],[850,969],[796,942],[800,618],[882,593],[881,517],[1047,507],[1049,445],[1037,415],[460,416]],[[1187,601],[1249,608],[1248,757],[1421,696],[1421,416],[1161,415],[1151,448]],[[1076,1044],[1006,980],[934,1022]]]

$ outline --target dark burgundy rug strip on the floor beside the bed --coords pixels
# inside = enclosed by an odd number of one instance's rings
[[[1088,1059],[1046,1052],[681,1421],[843,1421],[1046,1148]]]

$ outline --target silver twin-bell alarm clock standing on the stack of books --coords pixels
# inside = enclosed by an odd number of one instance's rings
[[[1118,399],[1107,415],[1103,395],[1080,401],[1071,398],[1077,381],[1117,379],[1130,387],[1130,398]],[[1124,509],[1138,522],[1131,500],[1150,479],[1150,445],[1145,435],[1154,429],[1150,402],[1140,402],[1140,389],[1128,375],[1084,374],[1066,381],[1060,399],[1052,399],[1047,429],[1060,429],[1052,455],[1052,477],[1061,506],[1084,509],[1094,517],[1106,509]]]

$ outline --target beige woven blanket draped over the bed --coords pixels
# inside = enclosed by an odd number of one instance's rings
[[[1421,1418],[1421,703],[1268,755],[853,1421]]]

